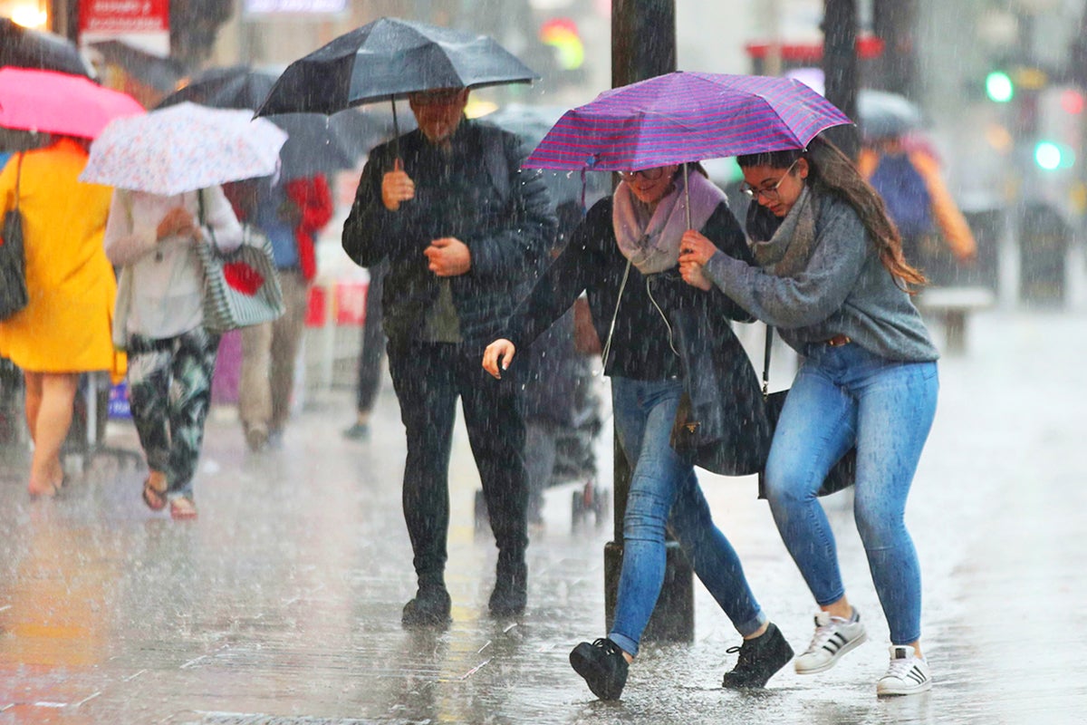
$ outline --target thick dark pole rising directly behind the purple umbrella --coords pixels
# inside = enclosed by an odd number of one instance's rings
[[[674,0],[613,0],[612,87],[675,70]],[[619,436],[614,439],[614,535],[604,545],[604,620],[609,628],[614,620],[623,566],[623,515],[630,489],[630,467]],[[642,640],[690,641],[695,638],[694,573],[676,541],[669,540],[666,551],[664,584]]]

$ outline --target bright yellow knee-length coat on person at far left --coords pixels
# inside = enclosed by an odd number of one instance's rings
[[[30,301],[0,322],[0,357],[35,373],[110,371],[116,278],[102,235],[112,189],[78,180],[87,153],[74,140],[23,158],[18,208]],[[14,208],[18,155],[0,173],[0,204]]]

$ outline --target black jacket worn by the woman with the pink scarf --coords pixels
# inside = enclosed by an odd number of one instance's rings
[[[744,233],[724,203],[700,232],[730,257],[751,260]],[[592,324],[605,342],[626,268],[626,258],[619,250],[612,227],[612,200],[602,199],[589,210],[532,293],[517,305],[502,337],[518,349],[527,347],[570,309],[582,291],[587,291]],[[678,341],[666,322],[669,312],[676,310],[716,318],[751,318],[715,287],[703,291],[685,283],[678,267],[642,275],[630,265],[604,373],[640,380],[683,375]]]

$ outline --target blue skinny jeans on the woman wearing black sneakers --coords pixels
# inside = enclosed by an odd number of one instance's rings
[[[695,468],[669,439],[683,383],[611,378],[615,430],[634,475],[623,516],[623,568],[609,638],[632,655],[664,583],[664,532],[741,636],[766,622],[728,539],[714,525]]]

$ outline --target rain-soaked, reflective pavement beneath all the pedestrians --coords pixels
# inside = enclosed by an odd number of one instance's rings
[[[826,500],[870,642],[836,668],[787,668],[765,691],[720,687],[738,643],[696,585],[689,643],[647,645],[619,703],[570,668],[603,632],[611,522],[572,527],[577,484],[547,493],[529,607],[487,615],[495,565],[474,530],[478,479],[459,428],[451,480],[453,624],[405,632],[414,592],[400,513],[403,434],[391,389],[367,442],[343,440],[353,395],[311,395],[284,447],[246,452],[214,413],[197,482],[200,518],[140,501],[141,466],[90,461],[57,501],[29,501],[27,457],[0,473],[3,723],[1087,723],[1087,316],[976,315],[941,398],[908,521],[922,558],[932,692],[877,700],[887,627],[851,522]],[[938,328],[935,330],[938,336]],[[109,442],[136,449],[111,423]],[[610,436],[599,443],[610,470]],[[719,524],[795,649],[814,607],[753,477],[703,475]],[[610,486],[610,483],[609,483]]]

